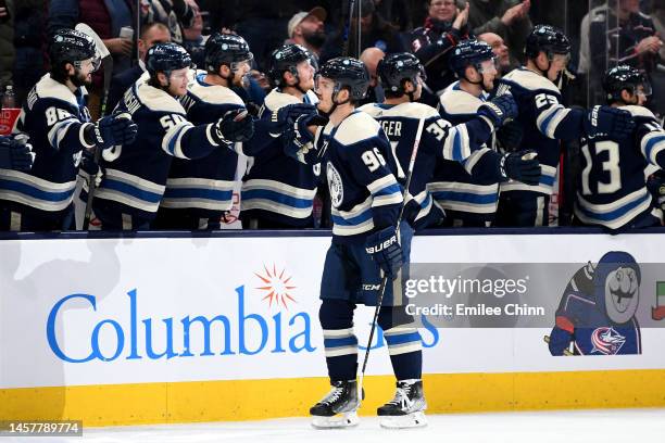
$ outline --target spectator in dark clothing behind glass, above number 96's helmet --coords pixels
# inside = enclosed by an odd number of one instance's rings
[[[404,52],[404,43],[399,36],[398,28],[388,23],[375,9],[373,0],[357,0],[361,2],[361,53],[367,48],[378,48],[386,53]],[[357,10],[354,8],[349,27],[349,55],[359,56],[357,53]],[[321,51],[321,63],[342,54],[344,47],[344,31],[337,31],[324,45]]]

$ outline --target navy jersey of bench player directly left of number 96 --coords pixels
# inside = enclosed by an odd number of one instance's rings
[[[308,92],[303,101],[314,104],[317,100]],[[265,98],[255,139],[246,143],[249,147],[244,149],[253,155],[242,182],[240,208],[243,216],[256,215],[293,227],[312,226],[321,166],[302,164],[285,154],[281,139],[271,137],[268,125],[274,111],[303,101],[278,89],[273,89]]]

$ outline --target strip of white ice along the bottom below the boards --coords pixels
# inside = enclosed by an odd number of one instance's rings
[[[428,416],[429,426],[389,431],[376,417],[356,428],[315,430],[306,418],[88,428],[84,438],[0,438],[0,443],[650,443],[665,442],[665,409],[608,409]]]

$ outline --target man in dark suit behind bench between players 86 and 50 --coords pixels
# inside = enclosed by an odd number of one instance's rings
[[[166,43],[168,41],[171,41],[171,31],[162,23],[153,22],[148,25],[143,25],[138,41],[139,62],[137,65],[130,67],[129,69],[123,71],[113,77],[111,88],[109,90],[108,110],[113,110],[123,98],[125,91],[129,89],[141,75],[143,75],[146,72],[145,61],[148,50],[156,43]]]

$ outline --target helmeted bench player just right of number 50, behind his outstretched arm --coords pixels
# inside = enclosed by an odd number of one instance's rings
[[[205,42],[205,69],[192,71],[180,103],[193,125],[216,123],[228,111],[244,110],[230,88],[241,87],[250,71],[252,53],[244,39],[214,34]],[[155,227],[160,229],[219,229],[224,213],[233,206],[238,154],[215,149],[197,159],[175,157]]]

